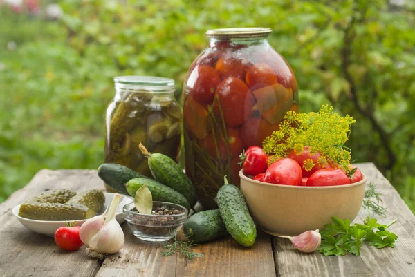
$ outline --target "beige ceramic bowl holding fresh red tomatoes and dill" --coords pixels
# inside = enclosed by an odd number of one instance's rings
[[[241,191],[252,218],[273,236],[297,236],[322,229],[331,217],[354,220],[362,207],[367,178],[328,187],[269,184],[252,180],[239,171]]]

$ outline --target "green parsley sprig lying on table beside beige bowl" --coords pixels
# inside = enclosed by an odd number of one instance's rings
[[[377,248],[395,247],[398,239],[395,233],[388,231],[392,225],[381,225],[376,218],[367,217],[363,224],[350,225],[350,220],[332,217],[333,223],[324,225],[321,231],[322,243],[319,247],[324,256],[343,256],[348,253],[360,256],[362,242]]]

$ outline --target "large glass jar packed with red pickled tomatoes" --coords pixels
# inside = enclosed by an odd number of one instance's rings
[[[186,173],[205,209],[224,175],[239,185],[239,155],[298,111],[297,81],[269,44],[269,28],[209,30],[210,44],[190,66],[183,87]]]

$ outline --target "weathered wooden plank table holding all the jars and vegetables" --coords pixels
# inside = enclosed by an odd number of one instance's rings
[[[394,187],[374,164],[358,164],[369,182],[378,185],[389,208],[391,231],[398,235],[396,248],[376,249],[363,245],[361,256],[324,257],[315,252],[302,254],[283,238],[259,231],[255,246],[239,247],[231,238],[223,238],[199,247],[204,258],[186,260],[183,256],[163,257],[160,244],[135,238],[126,224],[126,244],[118,254],[100,261],[79,251],[59,249],[53,238],[26,229],[12,215],[12,208],[45,189],[103,189],[93,170],[42,170],[29,184],[0,204],[0,276],[415,276],[415,217]],[[362,222],[367,216],[361,211]]]

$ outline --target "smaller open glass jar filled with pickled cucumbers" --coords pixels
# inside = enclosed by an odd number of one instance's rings
[[[114,78],[116,95],[105,117],[104,162],[122,164],[151,177],[140,142],[154,153],[178,160],[181,107],[174,99],[174,80],[149,76]],[[105,185],[107,191],[112,191]]]

